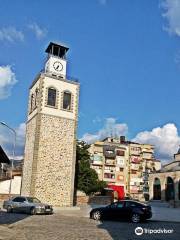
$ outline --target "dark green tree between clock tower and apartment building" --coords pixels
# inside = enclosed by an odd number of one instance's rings
[[[87,195],[101,192],[106,187],[106,183],[98,179],[96,171],[90,168],[89,147],[84,141],[77,141],[75,187]]]

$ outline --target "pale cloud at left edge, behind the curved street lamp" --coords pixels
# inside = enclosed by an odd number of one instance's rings
[[[22,159],[24,154],[25,131],[26,124],[21,123],[15,128],[17,139],[15,149],[15,159]],[[14,135],[6,127],[0,125],[0,145],[3,147],[7,155],[12,158]]]

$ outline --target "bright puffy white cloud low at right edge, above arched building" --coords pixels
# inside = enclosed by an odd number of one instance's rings
[[[172,159],[173,154],[177,152],[180,137],[175,124],[168,123],[162,127],[157,127],[151,131],[140,132],[133,141],[139,143],[148,143],[155,146],[156,156],[160,159]]]

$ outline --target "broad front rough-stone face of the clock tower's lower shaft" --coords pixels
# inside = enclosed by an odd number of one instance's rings
[[[31,195],[53,206],[72,206],[76,121],[39,114]]]

